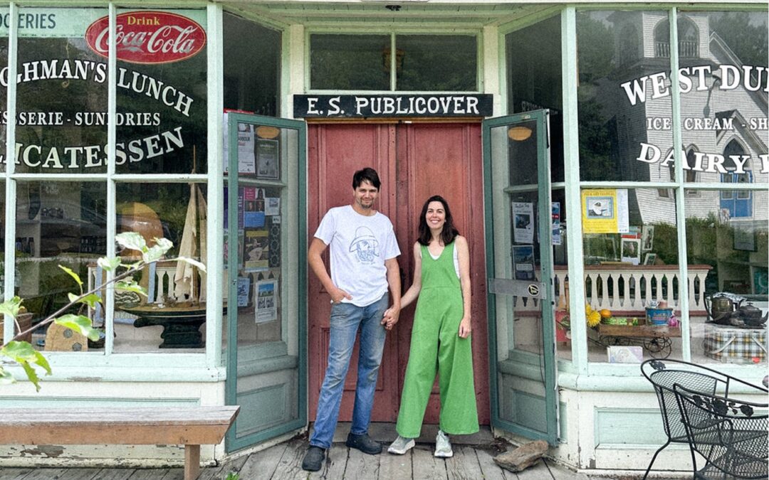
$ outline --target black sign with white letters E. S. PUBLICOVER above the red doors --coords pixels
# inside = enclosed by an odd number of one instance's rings
[[[294,118],[491,117],[491,94],[294,95]]]

